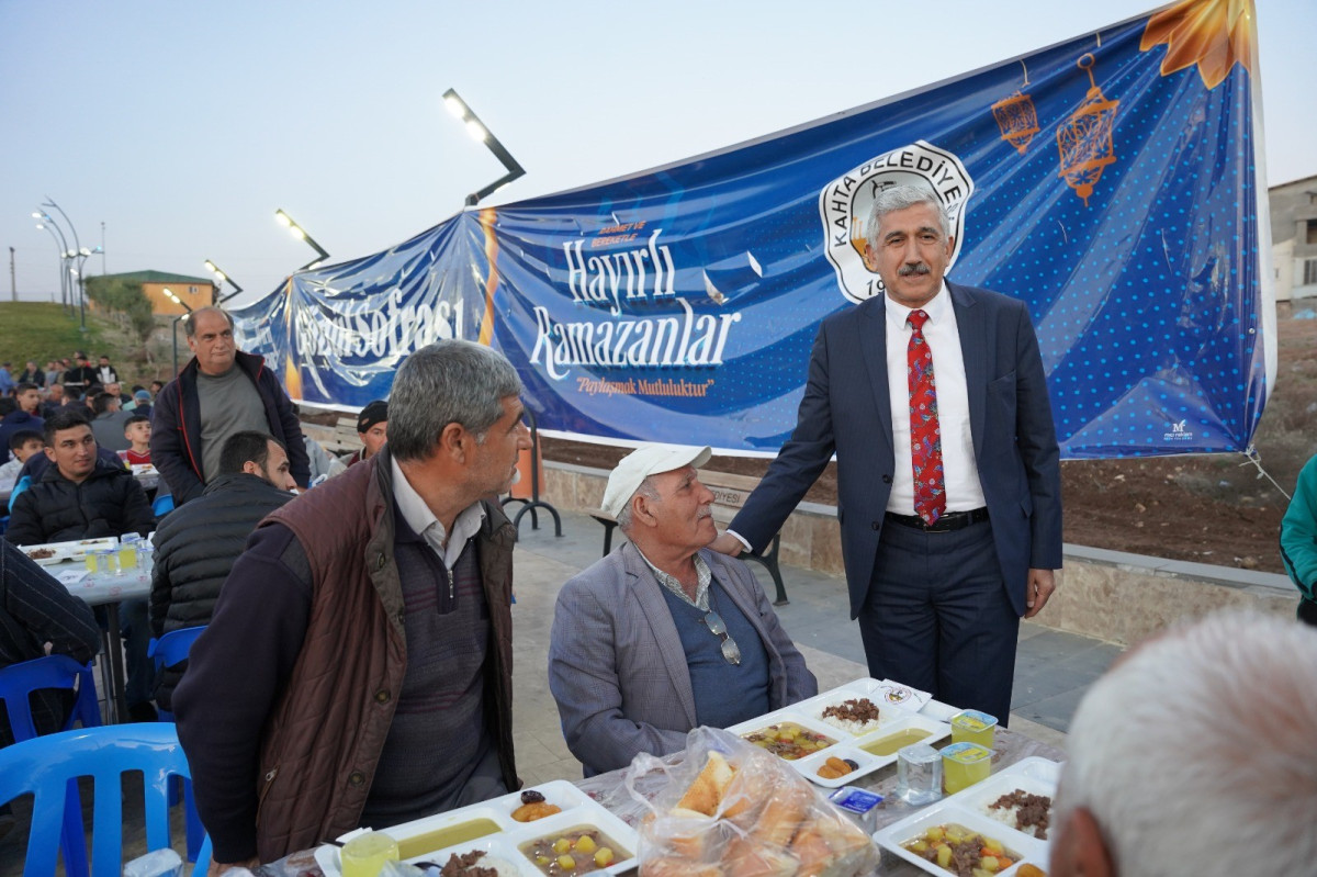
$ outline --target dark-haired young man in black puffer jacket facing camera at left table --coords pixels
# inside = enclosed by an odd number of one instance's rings
[[[51,465],[14,500],[4,533],[8,541],[41,545],[133,532],[145,536],[154,528],[146,492],[122,464],[97,456],[86,417],[61,412],[46,420],[43,438]],[[146,600],[121,603],[120,622],[128,643],[128,712],[136,722],[154,720]]]

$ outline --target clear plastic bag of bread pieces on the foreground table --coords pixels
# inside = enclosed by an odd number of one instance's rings
[[[669,782],[649,801],[635,784],[656,770]],[[651,811],[641,877],[852,877],[878,866],[869,836],[805,777],[726,731],[691,731],[677,765],[636,756],[626,782]]]

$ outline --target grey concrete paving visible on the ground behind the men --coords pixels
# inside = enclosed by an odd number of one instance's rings
[[[515,514],[516,507],[510,511]],[[518,769],[527,784],[581,778],[581,765],[562,740],[557,707],[548,690],[545,662],[558,589],[599,558],[603,528],[587,515],[560,514],[561,537],[553,535],[548,515],[537,515],[539,529],[532,528],[529,515],[523,516],[515,554],[514,739]],[[773,583],[768,574],[756,564],[751,569],[765,593],[772,595]],[[782,578],[790,603],[778,607],[777,614],[818,677],[819,689],[867,677],[860,632],[847,618],[844,579],[790,566],[782,568]],[[1119,652],[1119,647],[1100,640],[1023,623],[1010,727],[1051,745],[1064,747],[1065,731],[1079,699]],[[17,877],[22,872],[28,832],[25,811],[29,807],[20,805],[18,824],[8,837],[0,839],[0,877]],[[130,855],[140,855],[145,845],[140,805],[136,812],[125,807],[125,832]]]

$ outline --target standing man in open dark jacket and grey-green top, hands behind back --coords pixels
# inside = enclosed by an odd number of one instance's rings
[[[174,503],[202,495],[220,469],[224,441],[236,432],[269,432],[288,449],[292,478],[311,478],[302,425],[265,359],[237,349],[233,319],[198,308],[183,323],[192,359],[155,398],[151,462],[174,491]]]

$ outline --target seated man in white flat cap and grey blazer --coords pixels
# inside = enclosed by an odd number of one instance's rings
[[[818,693],[753,574],[710,552],[709,448],[643,445],[608,477],[603,511],[630,543],[558,594],[549,690],[585,776],[686,747]]]

